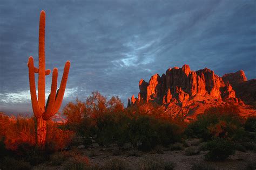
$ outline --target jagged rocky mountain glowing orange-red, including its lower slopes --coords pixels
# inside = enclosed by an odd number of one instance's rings
[[[166,109],[166,114],[193,118],[210,107],[234,104],[248,116],[256,115],[256,110],[245,104],[255,102],[255,94],[256,80],[247,81],[242,70],[220,77],[208,68],[193,71],[184,65],[169,68],[161,76],[155,74],[149,82],[140,80],[138,97],[133,95],[127,106],[156,102]]]

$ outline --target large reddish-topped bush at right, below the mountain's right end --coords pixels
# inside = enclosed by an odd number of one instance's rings
[[[235,106],[215,107],[198,115],[197,120],[190,123],[185,133],[188,137],[209,140],[212,137],[232,138],[240,140],[246,136],[242,124],[244,119],[238,115]]]

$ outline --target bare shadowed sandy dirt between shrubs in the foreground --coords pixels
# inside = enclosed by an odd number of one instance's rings
[[[112,159],[122,160],[130,169],[141,169],[146,161],[165,161],[173,162],[174,169],[191,169],[193,164],[205,165],[215,169],[245,169],[248,162],[256,162],[256,153],[254,151],[240,152],[235,151],[225,161],[206,161],[204,155],[207,151],[200,151],[197,155],[185,155],[185,151],[165,151],[161,154],[156,152],[140,152],[138,150],[119,150],[117,146],[112,147],[92,147],[79,149],[79,152],[89,158],[91,165],[98,167],[104,166]],[[136,156],[133,154],[136,153]],[[63,169],[62,166],[51,166],[51,162],[45,162],[33,169]]]

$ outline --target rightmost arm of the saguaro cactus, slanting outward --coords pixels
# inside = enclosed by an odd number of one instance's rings
[[[62,75],[62,82],[60,83],[60,87],[56,95],[56,100],[53,106],[53,110],[51,112],[51,116],[56,114],[56,112],[60,108],[60,105],[62,104],[62,100],[65,93],[65,88],[66,88],[66,81],[68,80],[68,76],[69,76],[69,68],[70,68],[70,61],[67,61],[65,63],[65,67]]]

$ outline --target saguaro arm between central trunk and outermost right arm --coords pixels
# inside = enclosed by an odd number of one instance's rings
[[[43,114],[43,119],[46,121],[51,117],[51,112],[53,105],[55,103],[56,89],[57,89],[57,80],[58,80],[58,69],[54,68],[52,72],[52,83],[51,83],[51,93],[46,104],[45,112]]]

